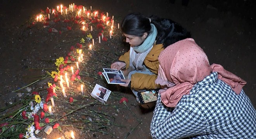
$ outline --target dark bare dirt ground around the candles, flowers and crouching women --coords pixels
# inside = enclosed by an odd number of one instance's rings
[[[82,37],[85,38],[86,34],[83,34],[81,30],[72,29],[67,31],[66,25],[63,24],[52,24],[52,27],[62,31],[61,34],[59,32],[49,33],[48,28],[44,28],[42,24],[28,27],[28,25],[31,25],[28,24],[30,19],[35,18],[35,15],[40,13],[41,9],[45,10],[47,7],[56,7],[60,4],[68,6],[70,3],[83,5],[87,8],[92,6],[93,10],[100,10],[105,14],[108,12],[111,17],[114,15],[115,27],[130,12],[141,12],[145,15],[156,14],[159,17],[172,19],[180,23],[191,32],[195,42],[204,49],[210,64],[221,64],[226,70],[247,81],[244,90],[254,107],[256,107],[256,2],[253,0],[236,0],[235,2],[232,0],[190,0],[187,6],[183,6],[179,0],[176,0],[175,3],[171,3],[169,0],[74,0],[72,2],[67,0],[22,0],[17,2],[0,0],[1,110],[21,101],[24,96],[31,94],[33,91],[40,92],[42,97],[45,98],[47,93],[44,89],[48,87],[47,82],[53,82],[52,78],[36,82],[29,86],[31,90],[24,88],[17,92],[14,91],[40,79],[36,76],[45,75],[45,71],[50,72],[51,70],[46,69],[54,68],[55,59],[60,56],[65,58],[70,51],[70,47],[80,43]],[[84,64],[81,71],[97,76],[97,71],[102,68],[109,68],[107,66],[114,59],[118,59],[120,54],[128,51],[128,47],[122,45],[120,30],[115,28],[114,31],[115,34],[112,39],[108,38],[106,42],[100,44],[97,39],[98,32],[92,33],[93,38],[95,38],[95,52],[85,49],[85,58],[88,60],[87,65]],[[52,118],[57,119],[59,115],[68,113],[65,109],[72,110],[78,108],[84,101],[90,101],[94,103],[90,105],[90,110],[96,113],[98,111],[105,112],[106,115],[109,115],[107,117],[112,124],[97,127],[96,124],[81,123],[81,119],[86,121],[89,117],[83,115],[88,109],[81,108],[79,112],[65,115],[67,119],[60,121],[60,124],[63,125],[63,132],[54,129],[50,135],[40,132],[38,137],[53,139],[72,129],[76,132],[76,138],[81,139],[126,137],[127,139],[150,139],[149,127],[153,111],[140,108],[130,90],[118,85],[108,85],[104,79],[100,80],[99,76],[97,79],[92,79],[90,76],[81,75],[81,78],[92,85],[99,83],[113,92],[107,100],[107,106],[93,101],[89,95],[92,88],[88,87],[88,97],[76,93],[67,93],[68,97],[72,96],[81,103],[67,106],[61,100],[57,101],[56,105],[60,105],[60,107],[56,108],[56,115]],[[74,86],[76,86],[76,83],[74,83]],[[72,91],[75,92],[75,90],[77,88],[74,87]],[[20,94],[21,96],[19,96]],[[127,106],[131,111],[125,105],[119,104],[120,97],[128,98]],[[61,97],[61,99],[68,101],[64,97]],[[17,105],[12,110],[19,107],[21,106]],[[12,110],[3,110],[0,115],[8,114]],[[64,111],[65,114],[63,114]],[[96,113],[93,114],[97,115]],[[76,119],[76,117],[79,118]],[[78,122],[74,122],[77,120]],[[94,120],[101,119],[96,118]],[[1,121],[0,124],[3,122]],[[76,128],[75,126],[88,129]],[[97,129],[102,132],[90,129]],[[107,134],[109,132],[111,134]]]

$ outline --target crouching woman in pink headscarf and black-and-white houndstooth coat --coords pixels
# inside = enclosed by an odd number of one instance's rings
[[[209,65],[194,39],[168,46],[158,59],[156,83],[165,89],[150,126],[154,139],[256,138],[256,110],[242,89],[246,81]]]

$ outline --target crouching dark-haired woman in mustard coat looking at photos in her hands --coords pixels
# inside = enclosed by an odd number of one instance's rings
[[[164,47],[190,37],[190,33],[172,20],[148,18],[140,13],[126,15],[121,31],[130,44],[130,51],[112,63],[111,68],[123,70],[125,76],[128,75],[121,86],[130,87],[138,101],[138,92],[160,88],[155,83],[159,53]]]

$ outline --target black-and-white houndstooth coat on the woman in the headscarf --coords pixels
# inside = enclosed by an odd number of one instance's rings
[[[237,95],[216,72],[194,85],[174,110],[159,94],[150,132],[154,139],[256,139],[256,110],[244,90]]]

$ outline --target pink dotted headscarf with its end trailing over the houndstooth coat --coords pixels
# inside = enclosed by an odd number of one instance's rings
[[[218,78],[230,85],[237,94],[246,84],[246,81],[225,70],[223,66],[209,65],[206,54],[191,38],[166,47],[158,59],[160,64],[156,83],[167,86],[175,84],[167,90],[160,90],[162,102],[167,107],[175,107],[197,82],[214,71],[218,72]]]

